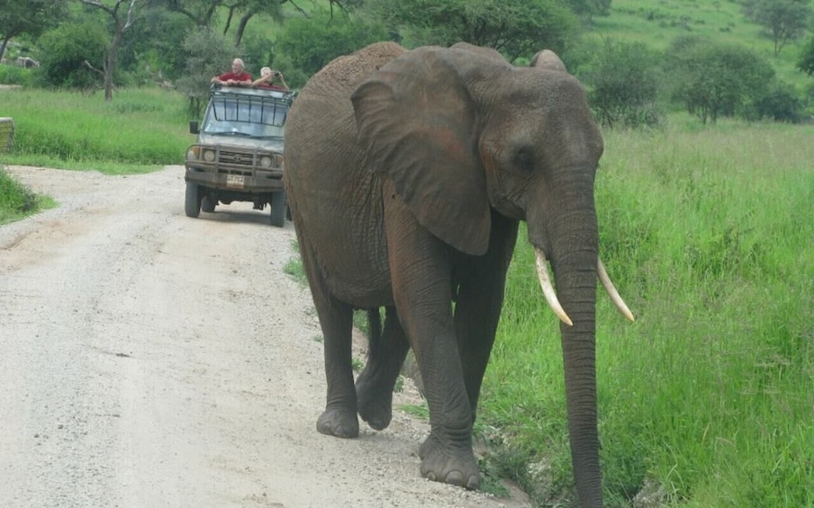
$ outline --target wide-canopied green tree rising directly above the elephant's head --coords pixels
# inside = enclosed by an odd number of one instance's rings
[[[449,46],[459,41],[497,49],[509,61],[539,49],[564,52],[579,20],[556,0],[369,0],[394,32],[415,45]]]

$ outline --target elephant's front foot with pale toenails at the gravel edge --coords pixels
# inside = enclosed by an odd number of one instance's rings
[[[430,434],[421,444],[421,476],[434,482],[477,490],[480,473],[471,447],[451,448]]]

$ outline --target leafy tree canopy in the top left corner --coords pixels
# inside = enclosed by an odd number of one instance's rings
[[[65,13],[63,0],[0,0],[0,58],[9,40],[23,33],[39,37]]]

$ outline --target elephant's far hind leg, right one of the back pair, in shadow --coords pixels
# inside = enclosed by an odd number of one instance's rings
[[[379,310],[372,309],[370,345],[365,370],[356,382],[359,416],[376,431],[384,430],[393,418],[393,386],[402,369],[410,343],[394,307],[386,307],[384,331],[378,334],[375,321]]]

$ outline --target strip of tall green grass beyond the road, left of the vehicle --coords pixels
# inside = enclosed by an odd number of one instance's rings
[[[189,134],[185,99],[155,88],[101,94],[0,90],[0,111],[14,118],[6,164],[126,174],[183,164]]]

